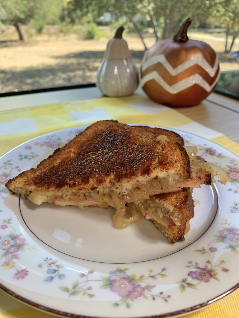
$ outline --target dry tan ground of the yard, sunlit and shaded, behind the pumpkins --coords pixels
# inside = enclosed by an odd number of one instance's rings
[[[94,83],[96,71],[102,61],[109,35],[100,40],[79,40],[76,34],[46,34],[18,41],[14,29],[0,34],[0,92],[32,90],[53,86],[71,86]],[[224,38],[192,33],[190,38],[209,43],[218,53],[221,70],[238,69],[235,58],[223,53]],[[11,39],[11,40],[9,40]],[[136,34],[125,39],[134,63],[139,68],[144,54],[141,40]],[[154,38],[146,36],[148,47]],[[234,50],[239,50],[236,41]]]

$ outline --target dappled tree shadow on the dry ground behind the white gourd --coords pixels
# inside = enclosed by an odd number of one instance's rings
[[[144,51],[131,51],[138,69],[143,54]],[[84,51],[58,56],[59,62],[55,65],[29,67],[21,71],[1,70],[0,93],[95,83],[103,55],[104,51]]]

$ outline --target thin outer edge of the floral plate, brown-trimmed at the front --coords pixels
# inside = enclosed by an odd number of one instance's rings
[[[148,126],[148,127],[157,127],[157,128],[164,128],[164,129],[169,129],[169,130],[173,130],[173,131],[178,131],[178,132],[182,132],[184,134],[189,134],[189,135],[193,135],[195,137],[199,137],[199,138],[202,138],[206,141],[209,141],[209,142],[212,142],[214,143],[215,145],[218,145],[219,147],[225,149],[226,151],[228,151],[229,153],[233,154],[236,158],[239,159],[239,156],[237,156],[233,151],[227,149],[226,147],[214,142],[214,141],[211,141],[210,139],[207,139],[205,137],[202,137],[200,135],[196,135],[196,134],[192,134],[190,132],[186,132],[184,130],[180,130],[180,129],[177,129],[177,128],[168,128],[168,127],[163,127],[163,126],[156,126],[156,125],[147,125],[147,124],[135,124],[135,123],[127,123],[128,125],[137,125],[137,126]],[[0,160],[6,156],[7,154],[9,154],[11,151],[17,149],[18,147],[21,147],[23,146],[25,143],[28,143],[28,142],[31,142],[31,141],[34,141],[35,139],[38,139],[40,137],[43,137],[43,136],[46,136],[46,135],[51,135],[51,134],[55,134],[55,133],[59,133],[59,132],[63,132],[64,130],[69,130],[69,129],[77,129],[77,128],[82,128],[82,127],[88,127],[90,126],[91,124],[85,124],[85,125],[77,125],[77,126],[72,126],[72,127],[66,127],[66,128],[62,128],[62,129],[58,129],[58,130],[54,130],[54,131],[51,131],[51,132],[48,132],[46,134],[43,134],[43,135],[39,135],[37,137],[34,137],[32,139],[29,139],[21,144],[19,144],[18,146],[10,149],[9,151],[7,151],[6,153],[4,153],[1,157],[0,157]],[[205,233],[203,233],[202,235],[204,235]],[[117,263],[118,264],[118,263]],[[190,307],[187,307],[187,308],[184,308],[184,309],[181,309],[181,310],[176,310],[176,311],[171,311],[171,312],[167,312],[165,314],[159,314],[159,315],[148,315],[148,316],[133,316],[134,318],[163,318],[163,317],[176,317],[176,316],[180,316],[180,315],[184,315],[184,314],[188,314],[188,313],[192,313],[192,312],[195,312],[199,309],[202,309],[202,308],[205,308],[211,304],[214,304],[215,302],[221,300],[222,298],[228,296],[229,294],[233,293],[234,291],[236,291],[237,289],[239,288],[239,282],[237,284],[235,284],[233,287],[229,288],[227,291],[217,295],[217,296],[214,296],[212,299],[209,299],[207,301],[204,301],[202,303],[199,303],[197,305],[194,305],[194,306],[190,306]],[[60,311],[60,310],[57,310],[57,309],[54,309],[54,308],[51,308],[51,307],[48,307],[48,306],[44,306],[44,305],[41,305],[40,303],[38,302],[35,302],[35,301],[31,301],[23,296],[21,296],[20,294],[18,293],[15,293],[14,291],[12,291],[11,289],[9,289],[8,287],[5,287],[1,282],[0,282],[0,289],[8,294],[9,296],[11,296],[12,298],[14,298],[15,300],[17,301],[20,301],[22,303],[24,303],[25,305],[28,305],[34,309],[37,309],[37,310],[41,310],[41,311],[44,311],[46,313],[50,313],[50,314],[53,314],[53,315],[60,315],[62,317],[72,317],[72,318],[102,318],[102,317],[99,317],[99,316],[96,316],[96,315],[81,315],[81,314],[74,314],[74,313],[70,313],[70,312],[66,312],[66,311]],[[105,318],[109,317],[107,315],[104,316]]]

